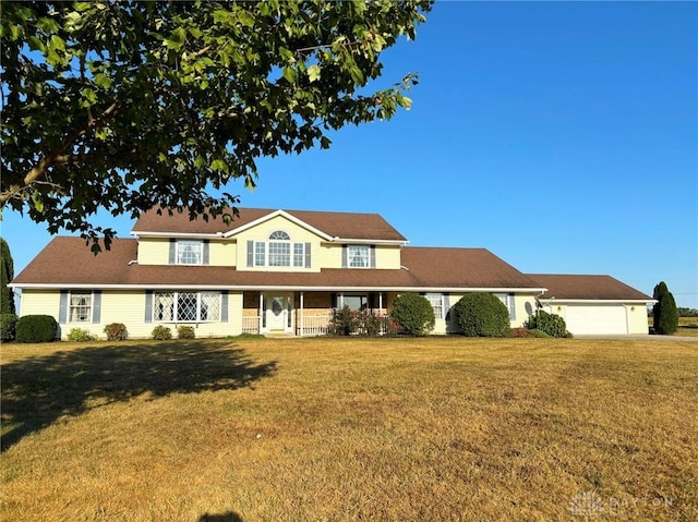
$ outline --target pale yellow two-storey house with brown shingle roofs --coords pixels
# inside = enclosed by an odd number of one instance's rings
[[[335,307],[386,315],[398,294],[419,292],[434,307],[434,332],[447,333],[457,331],[450,307],[468,292],[497,295],[512,327],[552,296],[562,303],[545,276],[525,275],[484,248],[408,246],[376,214],[242,208],[227,224],[154,209],[132,235],[98,256],[80,238],[55,238],[11,283],[22,291],[20,315],[52,315],[63,338],[72,328],[104,337],[110,323],[133,338],[157,325],[191,325],[197,337],[317,336]],[[594,318],[603,295],[583,308]],[[617,303],[627,299],[637,304],[624,305],[627,332],[647,333],[651,299],[629,289]],[[566,306],[567,314],[581,308]]]

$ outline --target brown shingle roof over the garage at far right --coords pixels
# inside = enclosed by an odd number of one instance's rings
[[[529,274],[529,277],[547,289],[541,296],[543,300],[653,301],[611,276]]]

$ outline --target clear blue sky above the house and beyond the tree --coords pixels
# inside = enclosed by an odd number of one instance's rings
[[[411,245],[607,274],[698,308],[698,3],[437,1],[378,87],[412,110],[260,162],[241,206],[378,213]],[[100,221],[129,236],[133,221]],[[49,241],[5,211],[15,274]]]

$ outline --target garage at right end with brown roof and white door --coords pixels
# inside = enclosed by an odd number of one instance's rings
[[[649,333],[647,305],[654,300],[611,276],[528,275],[545,292],[538,302],[565,319],[575,336]]]

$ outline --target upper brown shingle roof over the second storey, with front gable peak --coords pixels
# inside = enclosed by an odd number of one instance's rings
[[[239,217],[230,224],[226,224],[220,216],[202,217],[191,220],[189,213],[151,209],[141,215],[133,234],[167,233],[167,234],[231,234],[239,229],[273,218],[279,214],[288,215],[296,220],[306,223],[309,227],[325,233],[328,238],[344,240],[370,240],[370,241],[398,241],[407,242],[407,239],[390,226],[378,214],[361,213],[326,213],[312,210],[274,210],[268,208],[239,208]]]

